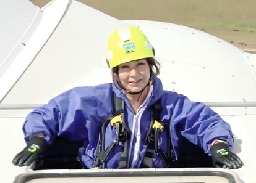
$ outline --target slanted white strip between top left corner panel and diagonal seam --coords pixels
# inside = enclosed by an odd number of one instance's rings
[[[28,3],[27,1],[25,2],[24,5],[27,7],[26,5]],[[7,59],[0,67],[0,102],[17,79],[22,75],[23,71],[25,71],[28,65],[32,62],[33,58],[46,43],[49,36],[51,36],[51,33],[61,20],[68,4],[69,0],[53,1],[48,4],[48,8],[47,10],[44,10],[44,13],[33,6],[38,10],[38,14],[34,20],[30,22],[31,25],[26,25],[27,29],[19,38],[17,47],[14,46],[12,48],[14,51],[10,52]],[[16,17],[22,17],[21,15],[16,14],[13,10],[11,11],[11,14],[14,14]],[[9,22],[9,24],[19,27],[19,23],[17,22]],[[10,27],[8,29],[11,31]],[[17,30],[21,31],[22,27],[21,29],[17,28]],[[11,35],[9,35],[8,38],[11,38]],[[0,55],[2,55],[2,53]]]

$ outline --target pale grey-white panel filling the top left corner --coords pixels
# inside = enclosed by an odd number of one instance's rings
[[[1,67],[16,47],[22,49],[21,39],[35,18],[40,16],[38,7],[27,0],[0,2],[0,76]],[[19,45],[20,44],[20,45]],[[19,51],[20,51],[19,49]],[[18,52],[19,52],[18,51]]]

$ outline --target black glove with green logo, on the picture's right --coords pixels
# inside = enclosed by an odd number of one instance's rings
[[[243,163],[240,158],[231,152],[226,142],[217,142],[210,148],[211,158],[213,160],[213,166],[217,168],[241,168]]]

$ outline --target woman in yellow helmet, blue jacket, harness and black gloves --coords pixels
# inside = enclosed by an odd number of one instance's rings
[[[229,150],[229,124],[204,104],[164,91],[154,56],[139,28],[114,30],[107,55],[113,83],[71,89],[30,113],[23,126],[28,144],[14,165],[30,165],[60,136],[84,140],[79,157],[86,168],[171,167],[183,138],[211,155],[214,166],[241,168]]]

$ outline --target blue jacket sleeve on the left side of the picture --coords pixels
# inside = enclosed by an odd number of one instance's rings
[[[36,134],[45,137],[47,144],[51,144],[57,136],[69,140],[86,139],[86,123],[96,118],[95,101],[95,92],[90,87],[71,89],[51,99],[25,119],[23,133],[26,142]]]

